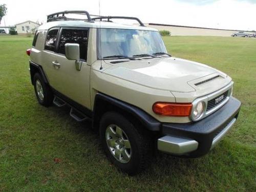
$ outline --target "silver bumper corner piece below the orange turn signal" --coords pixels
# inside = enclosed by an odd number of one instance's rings
[[[174,136],[164,136],[157,140],[157,148],[165,153],[183,155],[197,150],[198,142]]]

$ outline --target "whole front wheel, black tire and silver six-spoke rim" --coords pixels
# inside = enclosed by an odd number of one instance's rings
[[[146,134],[140,134],[129,120],[116,112],[106,112],[99,126],[104,152],[122,172],[136,175],[147,167],[152,150]],[[123,142],[118,140],[120,135]]]

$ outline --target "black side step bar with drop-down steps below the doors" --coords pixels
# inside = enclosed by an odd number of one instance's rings
[[[69,105],[66,101],[60,99],[59,97],[57,96],[54,96],[54,99],[53,99],[53,104],[55,104],[58,108],[62,107],[62,106],[65,106],[66,104]],[[82,122],[82,121],[85,121],[85,120],[88,120],[90,119],[88,116],[84,115],[83,113],[79,112],[78,110],[76,110],[75,108],[73,108],[71,105],[70,106],[70,113],[69,115],[74,118],[76,121],[78,122]]]

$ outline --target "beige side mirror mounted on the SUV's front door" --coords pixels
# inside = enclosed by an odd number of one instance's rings
[[[75,60],[76,70],[81,70],[82,61],[80,61],[79,44],[65,44],[65,56],[69,60]]]

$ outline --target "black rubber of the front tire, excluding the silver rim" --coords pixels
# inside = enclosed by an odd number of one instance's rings
[[[111,124],[121,127],[122,131],[130,141],[131,159],[129,162],[122,163],[118,161],[111,153],[110,148],[106,143],[106,129]],[[147,167],[152,154],[150,139],[146,134],[142,135],[139,133],[129,120],[116,112],[106,112],[100,120],[99,132],[106,156],[114,165],[121,169],[122,172],[129,175],[136,175]]]

